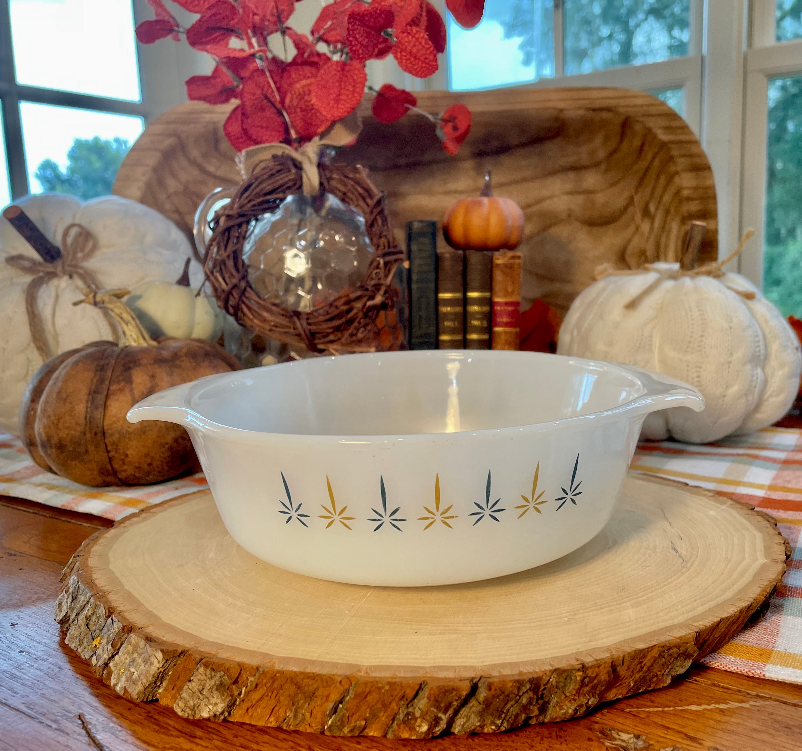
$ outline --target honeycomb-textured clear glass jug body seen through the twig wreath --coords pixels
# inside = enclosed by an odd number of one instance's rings
[[[358,286],[373,247],[363,215],[336,196],[295,194],[255,220],[242,257],[257,295],[310,312]]]

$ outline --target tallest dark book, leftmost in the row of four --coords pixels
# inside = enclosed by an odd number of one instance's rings
[[[437,222],[407,222],[409,349],[437,349]]]

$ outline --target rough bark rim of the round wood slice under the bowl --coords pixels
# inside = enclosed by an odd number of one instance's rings
[[[602,702],[669,684],[691,662],[727,643],[747,621],[762,614],[785,571],[788,542],[772,517],[671,480],[630,475],[627,482],[638,483],[641,490],[674,488],[696,503],[714,504],[735,527],[751,529],[750,537],[760,541],[761,545],[753,546],[755,550],[762,547],[762,557],[755,557],[759,565],[751,565],[751,578],[739,590],[687,622],[666,623],[638,638],[526,663],[534,668],[528,671],[480,666],[462,673],[455,668],[453,675],[437,668],[415,674],[417,668],[402,667],[393,674],[391,666],[376,668],[370,675],[342,663],[315,666],[314,660],[283,658],[282,664],[273,655],[264,653],[258,659],[257,652],[247,650],[241,651],[241,659],[231,659],[221,656],[224,650],[219,643],[205,643],[186,632],[182,632],[186,639],[162,638],[154,631],[164,632],[164,623],[133,596],[130,606],[115,607],[111,601],[119,600],[119,592],[110,594],[107,582],[99,585],[99,579],[108,577],[96,567],[93,570],[89,559],[94,551],[95,560],[105,560],[104,546],[110,550],[127,530],[165,510],[184,508],[189,513],[201,504],[211,504],[208,491],[166,501],[88,538],[64,569],[55,620],[65,632],[67,645],[116,692],[137,701],[157,700],[192,719],[391,738],[497,733],[523,724],[569,720]],[[718,517],[711,524],[717,521]],[[667,517],[666,522],[671,525]],[[298,579],[327,586],[318,580]],[[306,669],[290,667],[294,660]],[[325,669],[310,670],[310,665]]]

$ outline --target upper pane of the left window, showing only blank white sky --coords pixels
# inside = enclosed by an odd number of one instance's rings
[[[10,11],[19,84],[140,100],[131,0],[10,0]]]

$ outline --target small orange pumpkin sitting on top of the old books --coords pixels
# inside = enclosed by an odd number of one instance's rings
[[[512,198],[492,194],[488,169],[479,198],[462,198],[446,212],[443,234],[460,251],[511,251],[523,237],[524,212]]]

